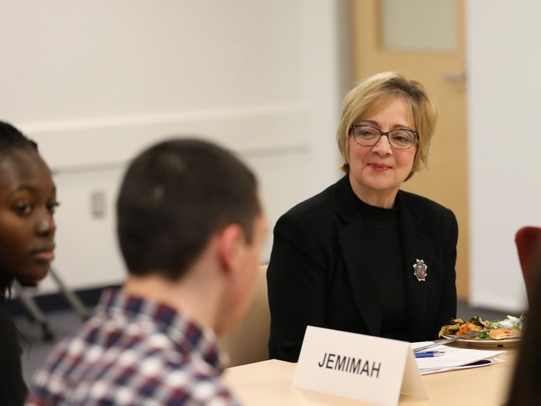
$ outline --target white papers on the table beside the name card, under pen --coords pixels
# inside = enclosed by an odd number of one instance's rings
[[[411,343],[411,349],[431,344],[431,341]],[[501,354],[505,351],[474,350],[470,348],[453,348],[449,346],[437,346],[431,348],[434,351],[444,351],[439,357],[415,358],[421,375],[429,373],[452,371],[454,369],[476,368],[505,362]]]

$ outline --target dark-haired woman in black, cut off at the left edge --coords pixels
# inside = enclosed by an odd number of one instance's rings
[[[56,188],[37,144],[0,121],[0,405],[26,396],[18,332],[6,300],[14,280],[36,285],[54,257]]]

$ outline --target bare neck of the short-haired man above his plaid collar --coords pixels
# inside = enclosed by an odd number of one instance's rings
[[[168,305],[198,325],[215,329],[220,287],[208,283],[194,270],[177,281],[166,279],[160,273],[148,276],[130,274],[123,291],[130,296]]]

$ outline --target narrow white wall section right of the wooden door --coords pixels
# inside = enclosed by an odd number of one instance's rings
[[[541,3],[467,1],[471,292],[526,306],[514,236],[541,225]]]

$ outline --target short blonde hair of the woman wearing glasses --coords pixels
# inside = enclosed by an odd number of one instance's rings
[[[383,72],[362,81],[345,96],[336,132],[336,142],[343,160],[340,168],[344,172],[350,170],[347,140],[350,137],[351,126],[376,114],[397,97],[406,102],[411,122],[415,127],[413,130],[419,135],[413,167],[406,180],[422,166],[427,167],[430,141],[436,127],[436,108],[419,82],[408,80],[397,72]]]

